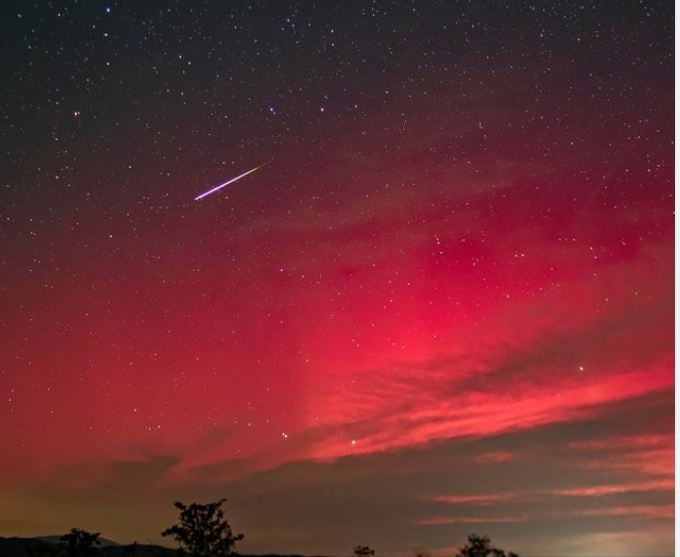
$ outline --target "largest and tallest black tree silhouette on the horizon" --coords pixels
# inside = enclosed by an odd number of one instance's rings
[[[174,536],[180,549],[192,557],[224,557],[231,554],[234,544],[243,539],[243,534],[234,536],[231,526],[224,518],[222,504],[216,503],[185,505],[179,501],[179,524],[161,532],[162,536]]]

